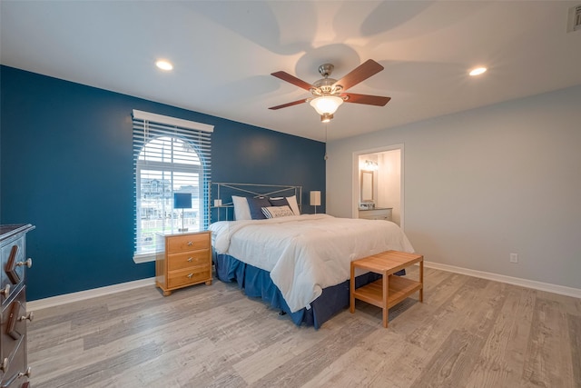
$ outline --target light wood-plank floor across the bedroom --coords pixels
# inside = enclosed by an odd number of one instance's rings
[[[360,301],[297,327],[217,280],[35,311],[31,386],[581,387],[581,299],[429,268],[417,295],[388,329]]]

